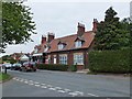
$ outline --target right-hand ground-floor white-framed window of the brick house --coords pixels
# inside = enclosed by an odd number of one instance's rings
[[[74,65],[84,65],[84,55],[81,54],[74,54]]]

